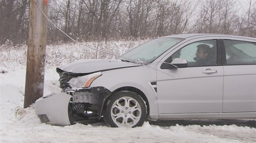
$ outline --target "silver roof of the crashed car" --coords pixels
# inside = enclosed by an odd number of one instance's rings
[[[160,38],[182,38],[182,39],[187,39],[187,38],[212,37],[212,36],[214,36],[214,37],[218,36],[218,37],[245,38],[245,39],[256,40],[256,38],[253,38],[253,37],[225,35],[225,34],[209,34],[209,33],[169,35],[169,36],[164,36],[164,37],[160,37]]]

